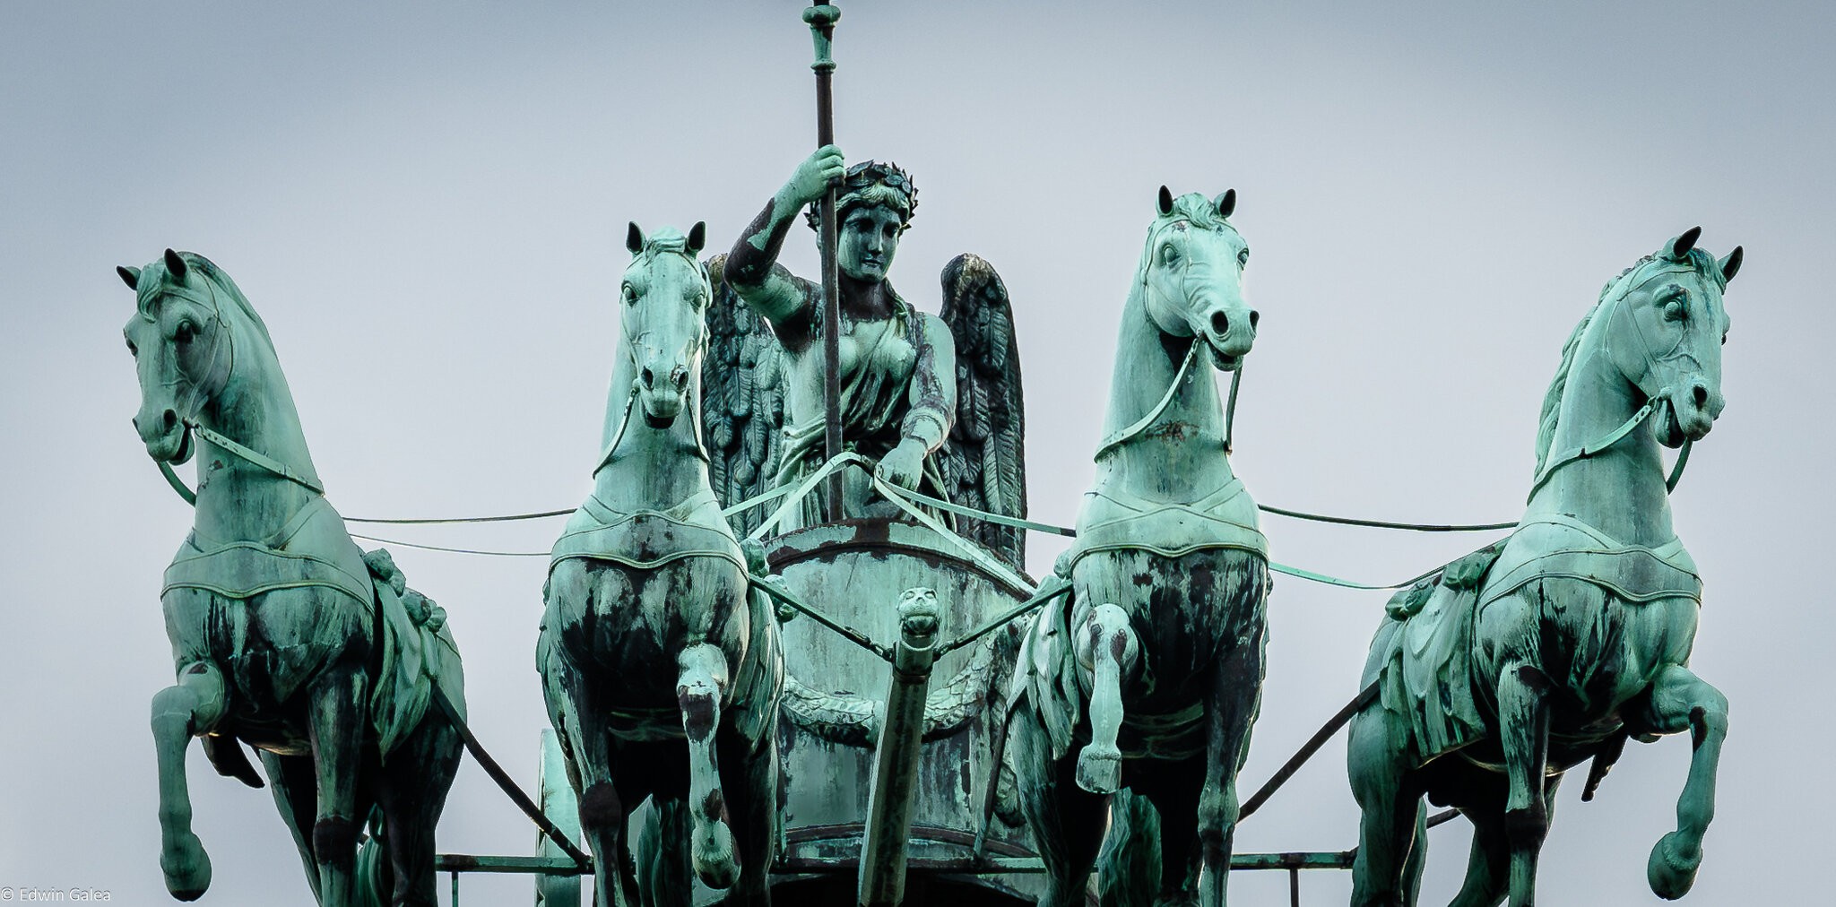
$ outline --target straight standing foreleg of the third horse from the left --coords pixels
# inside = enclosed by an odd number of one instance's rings
[[[1261,705],[1261,628],[1212,672],[1206,709],[1204,786],[1199,789],[1199,903],[1223,907],[1230,885],[1230,846],[1237,834],[1237,769],[1250,747]]]

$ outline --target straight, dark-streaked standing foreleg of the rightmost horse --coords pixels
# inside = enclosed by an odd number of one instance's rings
[[[1504,747],[1504,828],[1511,843],[1511,907],[1537,901],[1537,856],[1550,834],[1544,778],[1550,764],[1550,681],[1529,665],[1498,672],[1498,742]]]

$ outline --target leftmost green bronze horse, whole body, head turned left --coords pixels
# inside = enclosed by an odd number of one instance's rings
[[[319,903],[433,907],[433,826],[459,769],[463,709],[444,613],[408,589],[387,553],[365,554],[323,496],[268,329],[209,259],[165,250],[118,268],[136,294],[123,334],[140,373],[140,439],[167,479],[198,455],[195,523],[160,602],[178,683],[152,698],[160,868],[196,900],[211,863],[191,830],[185,747],[218,773],[263,780],[261,753]],[[437,690],[435,690],[437,685]],[[384,878],[358,878],[358,834],[384,839]]]

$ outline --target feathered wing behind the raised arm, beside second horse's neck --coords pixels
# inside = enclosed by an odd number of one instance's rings
[[[707,263],[714,288],[707,305],[707,356],[701,358],[701,444],[722,507],[771,487],[784,430],[784,362],[771,325],[740,299],[723,270],[725,255]],[[733,529],[751,532],[769,512],[755,507],[733,516]]]

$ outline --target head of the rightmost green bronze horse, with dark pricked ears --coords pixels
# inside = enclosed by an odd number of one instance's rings
[[[1614,367],[1656,404],[1658,441],[1680,446],[1709,433],[1726,400],[1720,349],[1728,342],[1722,290],[1741,270],[1741,246],[1715,261],[1695,248],[1691,228],[1641,259],[1603,290],[1605,351]]]

